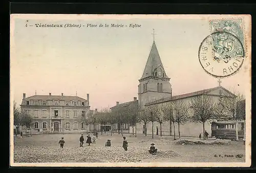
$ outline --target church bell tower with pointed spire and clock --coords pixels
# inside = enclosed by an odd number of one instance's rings
[[[164,71],[154,40],[143,75],[139,79],[139,107],[142,108],[146,103],[152,101],[172,98],[172,85],[169,80],[170,78]]]

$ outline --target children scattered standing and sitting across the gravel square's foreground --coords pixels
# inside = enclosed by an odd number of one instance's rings
[[[88,143],[89,146],[91,143],[96,143],[97,136],[98,136],[97,134],[93,134],[93,142],[92,142],[92,138],[90,137],[90,135],[88,135],[86,143]],[[83,141],[84,141],[83,134],[81,134],[79,141],[80,141],[80,147],[82,147]],[[65,140],[63,137],[61,137],[61,139],[59,140],[60,148],[63,148],[64,143],[65,143]],[[157,153],[157,148],[154,145],[155,144],[152,143],[150,150],[148,150],[148,152],[150,152],[150,154],[153,154],[153,155],[155,155]],[[105,143],[105,146],[111,146],[111,140],[108,139],[108,141],[106,141],[106,143]],[[122,147],[124,148],[125,151],[127,151],[128,142],[126,140],[126,137],[123,137],[123,146]]]

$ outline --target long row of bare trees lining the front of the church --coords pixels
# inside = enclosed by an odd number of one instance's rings
[[[163,123],[169,122],[169,135],[176,138],[175,129],[178,128],[178,136],[180,138],[180,125],[186,122],[202,123],[203,134],[205,132],[205,123],[219,118],[232,118],[236,121],[236,138],[238,140],[238,121],[245,120],[245,104],[241,104],[244,96],[240,93],[234,93],[236,97],[230,94],[222,94],[216,103],[214,98],[209,95],[200,95],[191,98],[185,102],[182,99],[176,99],[164,103],[147,104],[143,109],[139,109],[137,104],[130,106],[116,107],[110,111],[102,110],[99,114],[95,114],[92,118],[93,123],[101,125],[110,124],[113,129],[114,124],[118,124],[122,134],[122,124],[127,123],[129,126],[135,127],[135,135],[137,134],[137,123],[142,123],[145,127],[144,133],[147,135],[147,124],[152,124],[152,138],[154,138],[154,122],[160,124],[160,136],[162,136]],[[90,118],[89,118],[90,119]],[[88,121],[89,122],[89,121]],[[112,134],[112,132],[111,132]],[[245,133],[244,133],[245,134]],[[205,136],[203,135],[205,139]]]

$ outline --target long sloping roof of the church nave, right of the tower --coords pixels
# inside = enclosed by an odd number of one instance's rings
[[[156,100],[150,103],[147,103],[146,105],[151,105],[151,104],[156,104],[156,103],[162,103],[162,102],[167,102],[167,101],[171,101],[171,100],[177,100],[177,99],[182,99],[182,98],[187,98],[187,97],[194,97],[194,96],[198,96],[198,95],[202,95],[202,94],[207,94],[213,90],[216,89],[223,89],[227,92],[229,92],[228,90],[226,90],[225,88],[219,86],[219,87],[215,87],[215,88],[210,88],[210,89],[205,89],[205,90],[200,90],[200,91],[196,91],[193,93],[187,93],[187,94],[181,94],[181,95],[177,95],[177,96],[173,96],[172,98],[164,98],[164,99],[160,99],[160,100]],[[230,92],[229,92],[230,93]],[[231,93],[232,94],[232,93]],[[232,94],[233,95],[233,94]]]

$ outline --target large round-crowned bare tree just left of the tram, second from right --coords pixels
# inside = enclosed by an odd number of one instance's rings
[[[205,134],[205,122],[215,118],[216,104],[214,99],[208,95],[195,96],[190,100],[190,107],[193,109],[191,121],[203,124],[203,134]],[[205,139],[205,135],[203,135]]]

